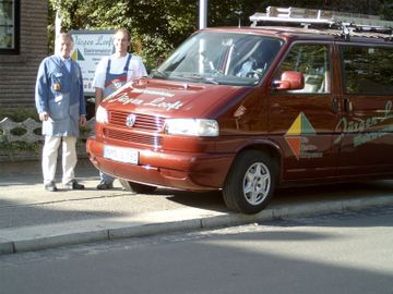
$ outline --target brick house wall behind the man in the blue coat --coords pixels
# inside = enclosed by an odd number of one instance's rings
[[[0,108],[34,107],[35,79],[48,54],[48,0],[21,0],[20,54],[0,54]]]

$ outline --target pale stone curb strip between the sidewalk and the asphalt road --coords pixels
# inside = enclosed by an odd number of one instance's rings
[[[361,210],[382,206],[393,206],[393,197],[378,196],[361,199],[320,201],[317,204],[295,204],[266,208],[252,216],[186,208],[144,213],[132,219],[95,219],[3,229],[0,230],[0,255],[172,232],[236,226],[321,213],[340,213],[348,210]]]

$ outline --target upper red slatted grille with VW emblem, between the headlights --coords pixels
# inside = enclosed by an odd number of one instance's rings
[[[117,126],[126,126],[126,119],[131,114],[130,112],[122,111],[109,111],[109,124]],[[134,113],[136,120],[132,128],[148,130],[153,132],[163,131],[165,119],[156,115],[147,115],[141,113]]]

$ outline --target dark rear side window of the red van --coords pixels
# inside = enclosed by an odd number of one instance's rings
[[[392,95],[393,49],[341,46],[345,94]]]

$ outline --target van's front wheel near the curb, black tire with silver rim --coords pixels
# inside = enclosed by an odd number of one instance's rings
[[[261,211],[273,196],[277,172],[277,162],[265,152],[249,150],[240,154],[224,184],[226,206],[246,215]]]

